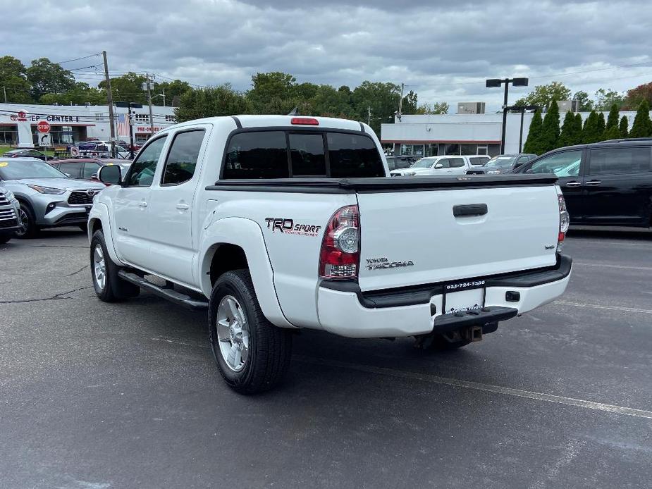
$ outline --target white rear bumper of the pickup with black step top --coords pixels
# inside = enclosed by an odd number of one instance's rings
[[[441,284],[364,293],[355,283],[324,281],[317,294],[319,323],[331,333],[350,338],[424,335],[481,326],[552,302],[566,290],[571,270],[570,257],[560,256],[551,268],[486,277],[487,310],[461,316],[441,314]],[[519,299],[508,301],[507,292],[518,292]]]

